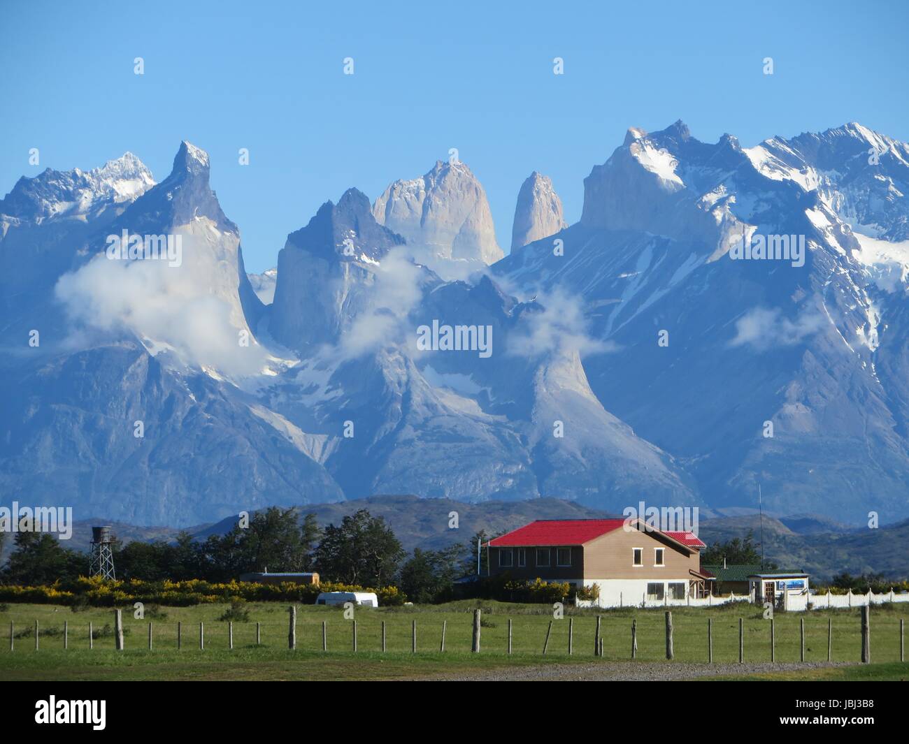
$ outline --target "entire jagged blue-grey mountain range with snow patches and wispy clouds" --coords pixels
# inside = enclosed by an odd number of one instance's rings
[[[125,154],[0,201],[0,504],[172,527],[389,492],[719,516],[760,487],[783,515],[909,516],[906,144],[632,128],[577,223],[530,175],[507,256],[452,157],[289,225],[265,274],[209,178],[185,142],[160,183]],[[181,251],[112,257],[121,235]]]

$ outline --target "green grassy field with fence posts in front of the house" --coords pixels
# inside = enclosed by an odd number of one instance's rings
[[[287,648],[287,605],[250,603],[249,621],[234,622],[234,649],[229,648],[228,624],[218,620],[228,605],[189,608],[146,607],[145,620],[124,610],[125,651],[114,649],[114,611],[90,609],[73,612],[56,605],[7,604],[0,611],[0,679],[395,679],[456,673],[502,666],[541,663],[589,663],[594,660],[596,610],[567,608],[563,620],[554,620],[549,647],[544,640],[552,611],[539,605],[494,601],[479,602],[483,609],[481,653],[471,654],[472,611],[476,601],[439,606],[355,610],[357,653],[353,651],[353,622],[340,608],[297,606],[295,651]],[[637,621],[637,660],[664,659],[663,610],[599,610],[603,618],[604,661],[630,660],[631,623]],[[909,616],[905,605],[872,610],[872,660],[885,676],[906,676],[900,660],[900,620]],[[770,661],[770,623],[752,605],[673,610],[674,650],[677,662],[707,661],[707,619],[713,619],[714,662],[738,660],[738,619],[744,618],[744,660]],[[574,621],[574,654],[568,655],[569,618]],[[859,610],[777,613],[774,621],[775,660],[797,662],[800,656],[800,620],[805,625],[805,660],[827,659],[827,620],[834,622],[834,661],[860,660]],[[513,653],[507,654],[508,620],[513,621]],[[34,625],[38,621],[39,648],[35,651]],[[381,652],[381,624],[385,621],[386,653]],[[412,623],[416,621],[417,653],[411,652]],[[64,622],[68,624],[64,650]],[[94,649],[88,648],[88,623],[94,626]],[[205,627],[205,650],[199,650],[199,622]],[[256,621],[262,644],[256,645]],[[325,621],[327,654],[322,650]],[[439,653],[445,621],[445,654]],[[9,651],[10,622],[15,648]],[[153,649],[148,650],[152,623]],[[183,645],[177,650],[177,623],[182,623]],[[106,626],[106,629],[105,629]],[[100,634],[99,634],[100,633]],[[884,667],[888,667],[884,670]],[[853,668],[850,668],[853,669]],[[867,673],[872,674],[869,670]],[[775,674],[775,673],[774,673]],[[784,679],[864,679],[860,671],[837,669],[786,672]],[[785,676],[788,675],[788,676]],[[766,679],[752,675],[751,679]]]

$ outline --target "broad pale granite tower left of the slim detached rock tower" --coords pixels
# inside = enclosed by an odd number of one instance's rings
[[[503,256],[483,186],[459,161],[437,161],[429,173],[395,181],[375,200],[375,220],[405,237],[418,263],[461,278]]]

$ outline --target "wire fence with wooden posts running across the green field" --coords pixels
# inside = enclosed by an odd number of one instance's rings
[[[275,622],[185,622],[123,619],[123,647],[130,651],[295,650],[332,652],[478,652],[490,654],[584,656],[605,660],[858,661],[863,660],[861,616],[824,618],[777,615],[773,620],[681,616],[671,612],[641,617],[471,618],[452,613],[444,620],[405,614],[380,617],[359,610],[355,620],[317,620],[297,616]],[[474,640],[479,620],[478,642]],[[667,623],[671,622],[671,628]],[[8,650],[116,650],[115,612],[109,622],[64,620],[42,626],[39,620],[9,623]],[[292,640],[293,635],[293,640]],[[874,617],[867,632],[874,661],[904,661],[904,620]]]

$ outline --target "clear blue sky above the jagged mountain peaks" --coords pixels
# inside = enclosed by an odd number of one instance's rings
[[[524,178],[550,175],[574,222],[629,126],[681,118],[750,146],[859,121],[909,140],[909,3],[744,5],[4,0],[0,193],[127,150],[160,181],[187,139],[262,271],[319,204],[352,185],[375,199],[452,147],[507,252]]]

